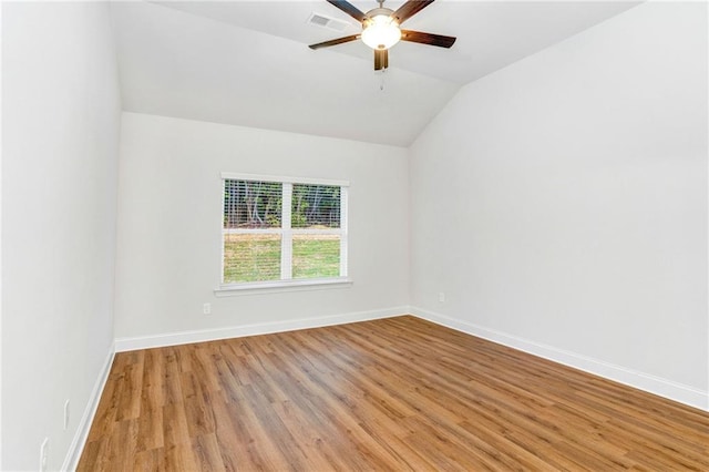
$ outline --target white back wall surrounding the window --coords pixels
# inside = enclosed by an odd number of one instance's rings
[[[123,113],[117,349],[404,312],[407,165],[400,147]],[[223,171],[349,181],[352,286],[215,297]]]

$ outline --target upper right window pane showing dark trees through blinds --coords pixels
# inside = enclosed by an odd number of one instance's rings
[[[339,228],[340,187],[294,184],[291,222],[294,228]]]

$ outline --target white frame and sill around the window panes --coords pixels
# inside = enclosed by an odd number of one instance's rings
[[[351,285],[352,280],[348,277],[348,191],[350,183],[348,181],[332,181],[323,178],[304,178],[304,177],[286,177],[275,175],[260,174],[240,174],[233,172],[223,172],[222,188],[226,181],[256,181],[256,182],[274,182],[282,184],[282,214],[280,228],[224,228],[224,213],[220,212],[219,220],[219,246],[220,258],[219,264],[219,285],[214,293],[217,296],[228,296],[237,293],[260,291],[260,290],[302,290],[315,288],[335,288]],[[291,227],[291,197],[294,184],[305,185],[328,185],[340,187],[340,227],[327,229],[306,229]],[[222,192],[222,208],[224,208],[224,192]],[[288,208],[288,211],[286,211]],[[281,235],[280,252],[280,279],[225,284],[224,283],[224,235],[225,233],[237,234],[279,234]],[[328,234],[340,236],[340,275],[338,277],[325,278],[292,278],[292,236],[298,234]]]

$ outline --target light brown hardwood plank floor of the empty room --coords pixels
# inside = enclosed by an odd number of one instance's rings
[[[709,471],[709,413],[414,317],[119,353],[79,471]]]

